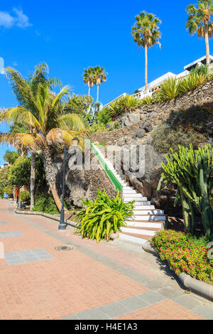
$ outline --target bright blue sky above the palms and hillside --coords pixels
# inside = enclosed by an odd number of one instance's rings
[[[144,52],[131,37],[135,16],[145,10],[162,21],[162,38],[148,50],[148,81],[205,54],[204,40],[185,29],[188,4],[196,1],[4,1],[0,5],[0,57],[24,76],[45,61],[50,76],[59,77],[76,94],[87,94],[84,68],[101,65],[108,72],[99,97],[106,104],[123,92],[144,85]],[[209,42],[210,53],[212,41]],[[212,51],[213,52],[213,51]],[[92,88],[96,97],[96,87]],[[4,75],[0,75],[0,107],[16,105]],[[0,131],[6,131],[0,125]],[[0,164],[6,147],[0,147]]]

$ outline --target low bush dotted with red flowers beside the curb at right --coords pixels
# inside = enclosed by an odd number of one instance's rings
[[[165,230],[157,232],[151,244],[176,274],[185,272],[195,279],[213,282],[213,259],[207,257],[209,248],[199,239],[194,240],[185,233]]]

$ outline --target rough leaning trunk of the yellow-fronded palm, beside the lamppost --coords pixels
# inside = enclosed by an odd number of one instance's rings
[[[53,194],[53,198],[55,200],[55,204],[58,207],[58,210],[61,210],[61,200],[60,197],[58,196],[58,192],[56,189],[56,184],[55,184],[55,172],[53,170],[53,162],[52,162],[52,157],[50,153],[50,148],[48,146],[45,146],[45,148],[42,151],[42,157],[43,157],[43,166],[45,169],[45,174],[46,174],[46,181],[50,187],[50,190]],[[65,212],[68,212],[67,209],[65,209]]]

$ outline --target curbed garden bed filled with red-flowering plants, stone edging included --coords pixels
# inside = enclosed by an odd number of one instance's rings
[[[209,257],[207,239],[162,230],[143,249],[168,262],[187,289],[213,300],[213,259]]]

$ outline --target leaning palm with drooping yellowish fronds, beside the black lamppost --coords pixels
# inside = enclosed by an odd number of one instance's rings
[[[40,149],[43,156],[46,181],[53,198],[61,209],[61,202],[56,190],[55,172],[53,169],[51,149],[66,143],[70,145],[78,131],[84,130],[84,122],[76,114],[62,114],[62,99],[70,91],[68,87],[62,87],[58,95],[54,94],[47,82],[40,82],[34,95],[31,90],[26,92],[30,109],[25,107],[13,107],[1,110],[0,119],[8,124],[10,122],[22,122],[28,124],[28,133],[0,134],[0,141],[13,145],[24,146],[32,150]],[[33,110],[34,112],[31,112]]]

